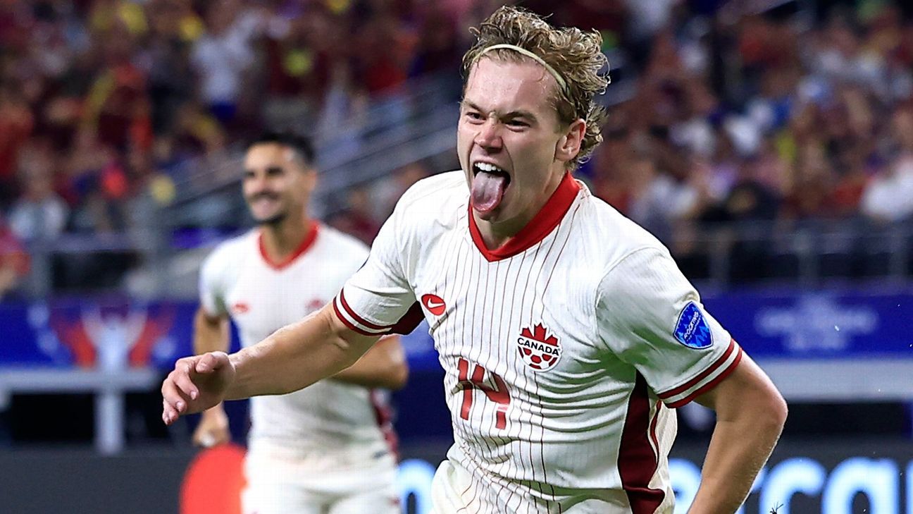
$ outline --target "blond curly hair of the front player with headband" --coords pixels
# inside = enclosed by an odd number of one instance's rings
[[[509,48],[485,51],[492,45],[508,44],[524,48],[547,62],[565,81],[566,87],[556,87],[551,102],[561,123],[570,125],[577,119],[586,122],[580,153],[568,163],[570,169],[579,166],[603,141],[602,125],[605,110],[594,102],[602,94],[608,80],[608,59],[602,52],[603,37],[596,31],[583,32],[574,27],[551,27],[544,19],[519,7],[503,6],[488,16],[478,27],[470,28],[476,43],[463,56],[463,91],[466,91],[469,71],[483,54],[487,57],[513,61],[533,59]],[[604,73],[600,73],[603,68]]]

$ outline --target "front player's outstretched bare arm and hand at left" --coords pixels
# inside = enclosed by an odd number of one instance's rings
[[[326,305],[230,356],[218,351],[179,359],[162,384],[162,419],[172,424],[223,400],[298,391],[352,366],[377,338],[346,327]]]

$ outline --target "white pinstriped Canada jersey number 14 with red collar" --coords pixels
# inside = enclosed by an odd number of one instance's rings
[[[419,182],[333,305],[365,334],[428,321],[460,512],[671,512],[669,407],[741,357],[662,243],[570,175],[493,252],[462,172]]]

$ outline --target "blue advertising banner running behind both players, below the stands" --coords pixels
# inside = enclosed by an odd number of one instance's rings
[[[913,361],[913,293],[786,290],[703,300],[755,359]],[[129,298],[0,304],[0,365],[171,368],[191,353],[195,309],[193,301]],[[438,369],[425,324],[404,346],[415,370]]]

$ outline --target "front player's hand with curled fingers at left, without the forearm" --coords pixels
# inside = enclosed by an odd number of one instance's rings
[[[178,359],[162,384],[162,421],[173,424],[221,403],[234,380],[235,366],[224,351]]]

